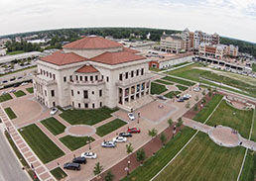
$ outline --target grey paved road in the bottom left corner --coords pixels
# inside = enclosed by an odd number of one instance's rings
[[[1,181],[29,181],[26,172],[22,170],[16,155],[11,150],[2,132],[0,132],[0,180]]]

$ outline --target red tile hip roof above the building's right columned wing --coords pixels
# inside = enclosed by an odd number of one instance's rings
[[[128,51],[117,51],[117,52],[104,52],[91,58],[91,61],[97,61],[105,64],[119,64],[129,61],[146,59],[144,56],[136,55]]]

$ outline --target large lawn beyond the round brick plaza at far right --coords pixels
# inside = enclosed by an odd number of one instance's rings
[[[253,110],[238,110],[229,106],[225,101],[222,101],[208,120],[207,125],[222,125],[230,127],[237,130],[241,136],[248,138],[250,134],[252,117]]]

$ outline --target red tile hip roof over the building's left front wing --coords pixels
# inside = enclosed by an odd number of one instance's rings
[[[42,57],[40,59],[42,61],[46,61],[57,65],[70,64],[87,60],[87,58],[77,55],[73,52],[64,53],[63,51],[56,51],[53,54]]]

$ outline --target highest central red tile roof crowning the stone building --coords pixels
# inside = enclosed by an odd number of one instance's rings
[[[70,49],[97,49],[97,48],[110,48],[110,47],[122,47],[123,45],[110,41],[101,37],[85,37],[81,40],[64,45],[64,48]]]

